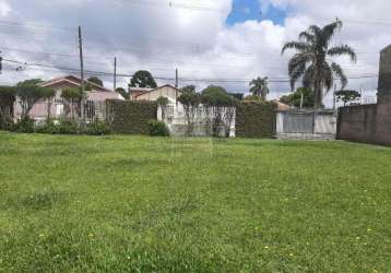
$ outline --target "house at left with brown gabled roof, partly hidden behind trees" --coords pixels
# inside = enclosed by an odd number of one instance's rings
[[[40,86],[43,87],[50,87],[56,91],[56,97],[54,99],[54,104],[51,106],[50,112],[54,117],[60,117],[63,115],[63,100],[61,98],[61,92],[64,88],[71,88],[71,87],[81,87],[81,79],[74,75],[67,75],[61,78],[56,78],[46,82],[40,83]],[[86,84],[90,85],[91,91],[86,92],[87,100],[91,104],[103,104],[106,99],[121,99],[125,98],[118,94],[117,92],[114,92],[111,90],[108,90],[106,87],[99,86],[95,83],[85,81]],[[19,104],[15,106],[15,116],[21,116],[21,107]],[[33,109],[29,111],[29,116],[36,120],[43,120],[47,118],[47,103],[46,102],[38,102],[34,105]]]

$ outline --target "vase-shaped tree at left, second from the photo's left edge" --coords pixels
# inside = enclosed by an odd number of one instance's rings
[[[22,108],[22,119],[27,118],[34,105],[44,98],[46,88],[38,85],[40,82],[39,79],[33,79],[16,84],[16,97]]]

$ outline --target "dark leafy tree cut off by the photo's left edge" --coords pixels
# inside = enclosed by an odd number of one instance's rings
[[[15,100],[15,87],[0,86],[0,129],[7,129],[12,123]]]

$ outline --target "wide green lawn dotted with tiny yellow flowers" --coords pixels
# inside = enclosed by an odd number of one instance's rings
[[[391,149],[0,133],[0,272],[391,272]]]

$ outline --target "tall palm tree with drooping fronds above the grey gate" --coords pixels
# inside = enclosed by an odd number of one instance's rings
[[[298,41],[286,43],[282,49],[282,54],[287,49],[297,51],[288,63],[292,90],[295,88],[296,82],[301,78],[305,87],[313,88],[317,108],[322,105],[323,91],[329,92],[334,80],[341,81],[342,88],[347,84],[347,78],[341,66],[328,59],[328,57],[347,55],[352,62],[357,59],[354,49],[348,45],[330,47],[335,32],[341,28],[342,22],[340,20],[322,28],[311,25],[307,32],[300,33]]]

